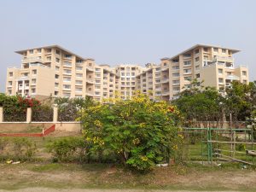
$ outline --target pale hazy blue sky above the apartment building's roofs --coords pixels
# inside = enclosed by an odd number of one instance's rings
[[[256,79],[256,0],[0,0],[0,92],[15,50],[59,44],[97,64],[160,63],[194,44],[241,49]]]

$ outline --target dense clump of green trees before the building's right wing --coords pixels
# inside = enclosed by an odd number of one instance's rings
[[[191,88],[183,90],[172,102],[185,117],[185,126],[200,126],[197,121],[223,121],[224,116],[230,119],[230,114],[232,121],[245,120],[256,113],[255,82],[233,81],[223,94],[213,87],[203,87],[202,83],[191,81]]]

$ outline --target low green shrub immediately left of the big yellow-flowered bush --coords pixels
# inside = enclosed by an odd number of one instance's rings
[[[67,162],[79,158],[82,161],[86,151],[83,137],[64,137],[48,143],[47,148],[55,161]]]

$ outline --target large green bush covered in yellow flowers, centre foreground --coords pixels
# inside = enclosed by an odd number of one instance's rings
[[[148,171],[169,160],[182,137],[177,134],[177,109],[167,102],[151,102],[140,93],[130,101],[97,103],[82,108],[80,120],[90,152],[113,151],[125,165]]]

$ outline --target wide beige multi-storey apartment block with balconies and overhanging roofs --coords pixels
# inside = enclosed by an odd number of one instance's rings
[[[21,67],[7,70],[6,93],[44,99],[49,96],[84,97],[97,101],[119,96],[130,99],[136,90],[150,99],[169,101],[190,87],[191,79],[204,81],[222,91],[234,80],[248,83],[245,66],[235,68],[233,54],[239,50],[196,44],[160,64],[145,67],[120,64],[96,65],[58,45],[16,51]]]

